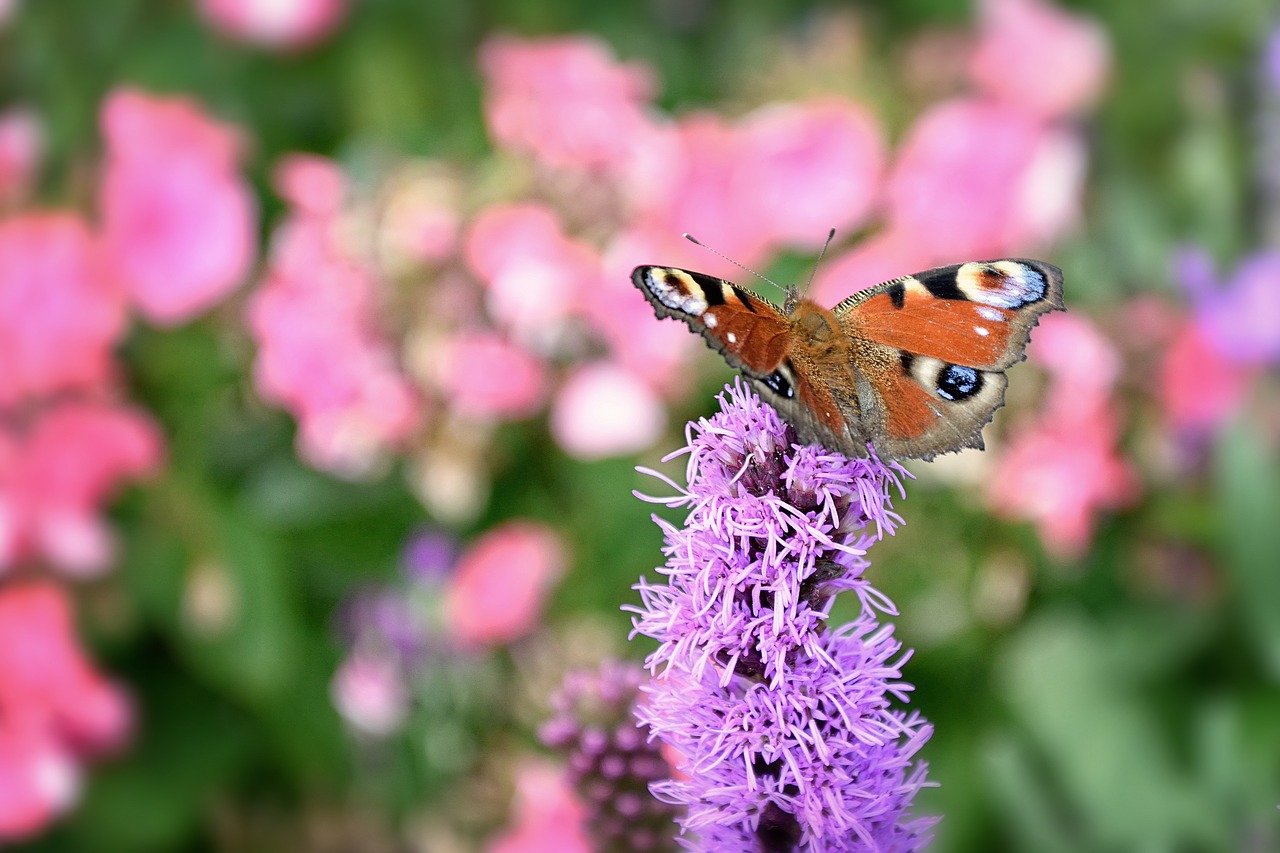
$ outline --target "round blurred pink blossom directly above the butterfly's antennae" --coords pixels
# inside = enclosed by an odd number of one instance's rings
[[[742,122],[744,179],[772,240],[820,248],[849,233],[878,200],[884,138],[863,106],[837,97],[764,106]]]

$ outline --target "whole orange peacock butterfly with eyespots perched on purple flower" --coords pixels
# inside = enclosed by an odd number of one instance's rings
[[[1007,259],[940,266],[859,291],[828,310],[787,288],[778,309],[713,275],[636,266],[658,318],[707,338],[801,443],[933,459],[982,448],[1041,315],[1061,310],[1062,270]]]

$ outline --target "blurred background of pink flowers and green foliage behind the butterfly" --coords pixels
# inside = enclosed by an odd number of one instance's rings
[[[0,15],[14,849],[572,849],[536,730],[649,651],[635,466],[730,377],[627,274],[777,298],[681,232],[792,282],[831,227],[827,304],[1066,272],[869,555],[933,849],[1280,849],[1270,3]]]

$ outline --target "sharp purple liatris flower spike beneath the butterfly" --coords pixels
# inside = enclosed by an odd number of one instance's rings
[[[714,850],[914,850],[931,818],[908,808],[925,784],[913,762],[932,734],[891,707],[911,685],[909,652],[861,576],[869,544],[901,523],[890,493],[906,471],[796,447],[795,432],[741,383],[690,426],[689,507],[664,521],[664,584],[641,580],[635,631],[658,640],[637,717],[678,751],[686,777],[659,783],[684,806],[681,843]],[[655,474],[657,476],[662,476]],[[829,629],[832,596],[861,613]]]

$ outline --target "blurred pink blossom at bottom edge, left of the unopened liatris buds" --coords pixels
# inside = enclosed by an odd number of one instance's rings
[[[512,825],[490,840],[485,853],[591,853],[586,811],[564,774],[549,763],[526,761],[517,771]]]

